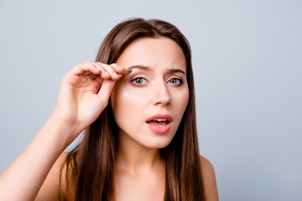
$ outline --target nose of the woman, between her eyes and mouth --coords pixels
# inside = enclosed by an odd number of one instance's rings
[[[153,90],[153,105],[168,105],[171,103],[171,96],[165,83],[158,83],[154,85]]]

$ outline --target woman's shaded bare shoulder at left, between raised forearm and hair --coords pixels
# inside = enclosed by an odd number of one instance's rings
[[[64,163],[67,152],[63,152],[59,158],[56,160],[56,162],[53,164],[53,167],[50,169],[42,187],[40,188],[40,191],[36,197],[35,200],[39,201],[48,201],[48,200],[59,200],[59,196],[61,196],[61,199],[64,200],[64,191],[66,186],[66,180],[65,180],[65,172],[64,169],[66,167],[63,167],[62,175],[61,175],[61,189],[59,189],[60,186],[60,170],[61,166]],[[59,193],[61,192],[61,194]]]

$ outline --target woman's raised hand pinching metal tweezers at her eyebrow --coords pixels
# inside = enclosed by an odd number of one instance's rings
[[[124,72],[117,64],[86,61],[76,65],[61,80],[53,115],[76,132],[70,140],[92,124],[108,104],[113,86]],[[100,77],[87,78],[89,74]]]

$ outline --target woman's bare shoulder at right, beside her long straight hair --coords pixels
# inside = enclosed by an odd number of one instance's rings
[[[204,188],[208,201],[218,200],[218,191],[216,184],[216,176],[213,165],[203,156],[200,156],[202,176],[204,179]]]

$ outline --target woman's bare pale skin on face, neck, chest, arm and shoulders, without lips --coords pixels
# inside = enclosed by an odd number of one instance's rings
[[[118,75],[124,72],[120,66],[132,67],[132,72]],[[185,56],[174,41],[166,38],[135,40],[116,64],[78,64],[63,77],[56,107],[46,124],[0,175],[0,200],[58,200],[58,172],[66,155],[63,151],[95,121],[109,97],[119,127],[115,199],[163,200],[165,163],[159,149],[174,137],[188,103],[183,72]],[[101,77],[86,78],[88,74]],[[156,114],[171,116],[171,128],[166,133],[157,133],[146,125],[146,119]],[[204,157],[200,159],[207,200],[216,201],[214,168]]]

